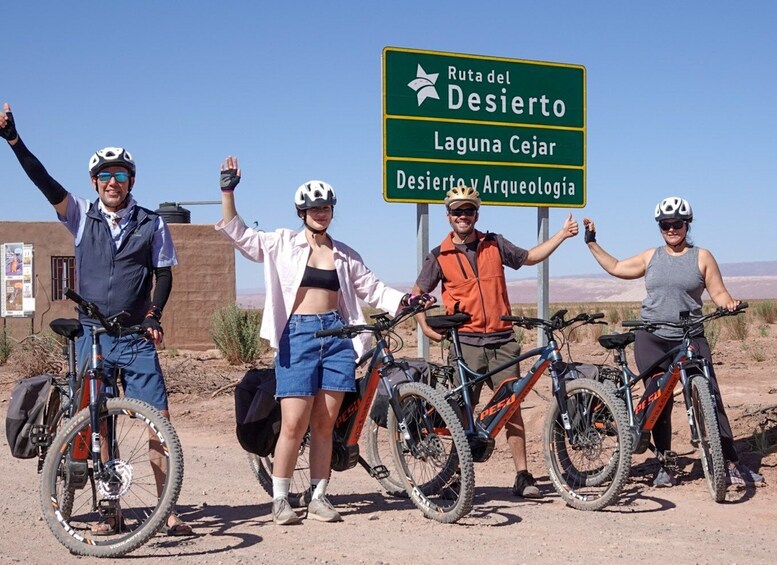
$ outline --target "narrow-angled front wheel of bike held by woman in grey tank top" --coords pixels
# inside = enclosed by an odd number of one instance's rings
[[[709,382],[701,375],[694,376],[691,377],[690,386],[701,468],[712,499],[723,502],[726,500],[726,462],[720,445],[720,429]]]

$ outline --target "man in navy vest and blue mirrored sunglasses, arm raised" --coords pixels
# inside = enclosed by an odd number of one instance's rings
[[[16,131],[7,103],[0,112],[0,137],[11,146],[24,172],[75,239],[77,292],[108,316],[128,312],[124,325],[142,324],[147,328],[145,340],[131,335],[117,338],[102,335],[103,351],[110,352],[105,364],[108,368],[123,368],[125,396],[151,404],[169,419],[167,390],[155,346],[162,342],[162,310],[172,290],[171,267],[178,259],[164,220],[139,206],[132,197],[135,184],[132,155],[121,147],[106,147],[92,155],[89,176],[98,198],[90,202],[65,190],[27,149]],[[94,321],[82,316],[81,323],[94,324]],[[85,334],[78,339],[78,359],[89,358],[91,343],[88,332]],[[150,441],[152,464],[158,459],[155,448],[161,449]],[[159,464],[155,475],[157,471]],[[106,534],[115,533],[118,524],[115,519],[113,523],[110,520],[97,524],[98,530],[93,533],[100,533],[99,528],[104,528]],[[167,526],[171,535],[192,531],[175,513],[170,515]]]

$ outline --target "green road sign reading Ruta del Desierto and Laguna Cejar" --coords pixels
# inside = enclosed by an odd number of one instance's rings
[[[585,205],[585,68],[387,47],[383,196]]]

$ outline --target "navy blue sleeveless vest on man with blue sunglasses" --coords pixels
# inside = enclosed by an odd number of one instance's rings
[[[97,201],[86,213],[84,233],[76,246],[78,293],[97,304],[107,317],[122,310],[122,325],[139,324],[151,305],[152,241],[159,216],[135,205],[118,249]],[[81,316],[81,322],[95,324]]]

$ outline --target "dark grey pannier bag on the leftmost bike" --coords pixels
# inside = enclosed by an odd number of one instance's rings
[[[38,448],[30,441],[30,431],[33,426],[43,423],[51,381],[50,375],[29,377],[19,381],[11,391],[5,434],[14,457],[30,459],[38,454]]]

